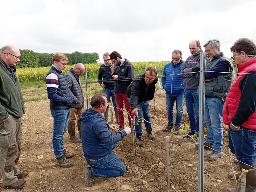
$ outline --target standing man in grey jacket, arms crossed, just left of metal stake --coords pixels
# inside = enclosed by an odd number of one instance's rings
[[[188,135],[194,135],[199,128],[199,94],[197,93],[198,81],[196,73],[200,70],[200,53],[203,52],[199,40],[192,40],[189,43],[191,56],[187,58],[180,70],[180,76],[184,77],[183,85],[185,87],[185,99],[187,114],[190,122],[190,132]],[[183,139],[191,139],[190,136],[184,136]]]

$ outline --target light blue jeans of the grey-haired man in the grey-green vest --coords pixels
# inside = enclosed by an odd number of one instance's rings
[[[221,98],[205,98],[206,143],[214,142],[212,148],[216,151],[222,151],[223,148],[222,109]]]

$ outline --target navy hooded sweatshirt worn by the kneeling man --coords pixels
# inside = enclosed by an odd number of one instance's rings
[[[106,156],[112,151],[112,145],[126,135],[124,130],[111,135],[107,120],[92,108],[85,110],[80,120],[84,156],[89,159]]]

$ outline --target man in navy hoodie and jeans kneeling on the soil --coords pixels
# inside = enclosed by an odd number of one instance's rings
[[[92,108],[85,110],[80,117],[81,137],[84,157],[90,167],[85,168],[85,181],[88,187],[94,186],[93,177],[117,177],[126,172],[126,167],[121,159],[112,152],[115,143],[131,133],[131,128],[126,127],[115,135],[111,135],[107,120],[101,115],[109,105],[107,95],[95,94],[90,102]]]

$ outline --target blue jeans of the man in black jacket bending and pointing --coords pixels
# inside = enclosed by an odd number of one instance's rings
[[[129,100],[130,101],[130,100]],[[137,106],[139,107],[139,111],[138,111],[138,116],[139,117],[143,117],[145,120],[151,122],[150,120],[150,116],[149,116],[149,102],[145,101],[145,102],[138,102]],[[135,122],[137,122],[137,117],[135,117]],[[138,123],[138,125],[135,125],[135,132],[136,135],[142,135],[142,120],[140,119],[141,122]],[[148,123],[146,121],[144,121],[145,127],[146,127],[146,131],[152,131],[151,128],[151,123]]]

